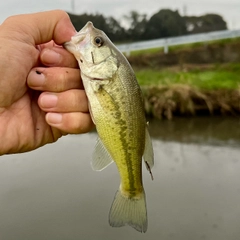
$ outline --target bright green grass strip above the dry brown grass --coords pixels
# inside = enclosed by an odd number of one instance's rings
[[[237,89],[240,87],[240,63],[214,66],[212,69],[173,71],[140,69],[135,71],[141,86],[186,84],[198,89]]]

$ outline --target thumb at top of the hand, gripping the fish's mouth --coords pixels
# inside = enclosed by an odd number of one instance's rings
[[[4,26],[13,37],[31,45],[50,40],[61,45],[76,33],[68,14],[62,10],[12,16],[3,22],[1,27]]]

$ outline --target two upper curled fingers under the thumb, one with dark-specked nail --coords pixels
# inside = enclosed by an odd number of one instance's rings
[[[53,41],[39,45],[40,61],[50,68],[33,68],[28,75],[29,87],[40,91],[61,92],[83,88],[74,56]]]

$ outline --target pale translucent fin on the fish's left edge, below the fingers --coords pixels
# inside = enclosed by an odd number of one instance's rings
[[[113,162],[112,157],[103,145],[100,138],[97,139],[96,147],[93,153],[92,168],[95,171],[101,171]]]

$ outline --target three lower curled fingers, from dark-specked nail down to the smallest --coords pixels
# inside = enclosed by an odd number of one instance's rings
[[[63,133],[85,133],[94,124],[88,112],[79,69],[34,68],[27,78],[29,87],[43,91],[39,107],[46,112],[46,122]]]

